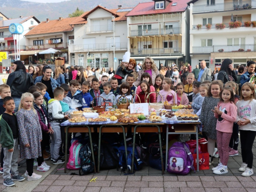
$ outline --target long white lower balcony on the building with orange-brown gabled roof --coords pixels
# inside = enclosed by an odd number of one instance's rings
[[[80,52],[80,51],[111,51],[113,50],[113,44],[83,44],[83,45],[70,45],[70,52]],[[116,42],[115,50],[127,50],[126,42]]]

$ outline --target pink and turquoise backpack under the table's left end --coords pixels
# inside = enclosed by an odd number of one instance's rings
[[[69,162],[67,163],[68,169],[77,170],[81,167],[79,151],[82,147],[82,144],[78,140],[73,140],[71,147],[69,148]]]

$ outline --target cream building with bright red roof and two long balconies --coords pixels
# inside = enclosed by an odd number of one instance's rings
[[[183,0],[139,3],[127,16],[128,48],[137,62],[151,56],[157,66],[189,60],[189,7]]]

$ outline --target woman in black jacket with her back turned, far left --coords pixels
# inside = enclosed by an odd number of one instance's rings
[[[12,98],[15,102],[14,112],[17,112],[22,94],[28,92],[34,82],[32,76],[27,73],[22,61],[14,61],[12,70],[13,73],[9,74],[6,84],[11,88]]]

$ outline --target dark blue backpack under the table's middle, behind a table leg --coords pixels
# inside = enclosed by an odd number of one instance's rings
[[[127,164],[126,164],[126,156],[125,156],[125,148],[124,146],[120,146],[118,148],[119,153],[119,166],[121,170],[124,172],[127,168],[127,172],[130,173],[132,169],[132,157],[133,157],[133,147],[127,146]],[[140,170],[142,168],[143,162],[141,161],[136,147],[134,148],[134,169]]]

